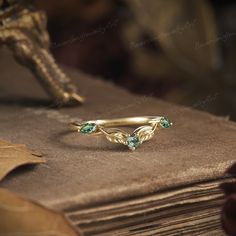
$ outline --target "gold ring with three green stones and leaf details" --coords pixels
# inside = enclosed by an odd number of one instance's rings
[[[163,116],[140,116],[107,120],[75,121],[70,129],[85,135],[105,135],[112,143],[120,143],[135,150],[144,141],[150,140],[155,131],[169,128],[172,123]],[[140,126],[131,134],[117,127]]]

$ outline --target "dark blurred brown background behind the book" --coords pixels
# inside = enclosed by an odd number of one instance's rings
[[[56,60],[236,120],[236,2],[36,0]]]

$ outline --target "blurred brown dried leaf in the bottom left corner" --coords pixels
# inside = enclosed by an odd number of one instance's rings
[[[0,189],[0,235],[76,236],[66,218],[38,203]]]

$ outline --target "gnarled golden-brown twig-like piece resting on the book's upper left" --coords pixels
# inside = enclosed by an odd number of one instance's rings
[[[0,44],[29,67],[58,105],[82,103],[76,87],[55,63],[49,52],[46,15],[30,0],[0,0]]]

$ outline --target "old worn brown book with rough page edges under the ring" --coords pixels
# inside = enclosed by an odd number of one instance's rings
[[[223,235],[218,185],[235,161],[233,122],[71,69],[87,102],[54,109],[30,72],[6,52],[0,60],[0,137],[47,160],[13,172],[0,187],[64,211],[84,235]],[[143,115],[165,115],[174,125],[134,152],[67,128],[73,119]]]

